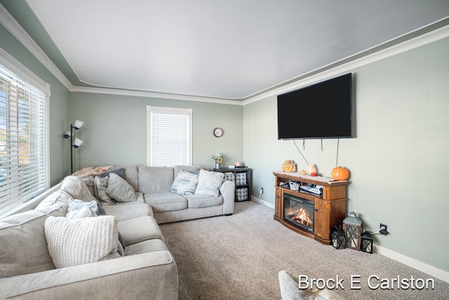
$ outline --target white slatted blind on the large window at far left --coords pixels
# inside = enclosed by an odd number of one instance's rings
[[[48,189],[48,94],[0,65],[0,214]]]

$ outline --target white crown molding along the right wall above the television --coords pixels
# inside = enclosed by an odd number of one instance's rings
[[[370,63],[375,63],[379,60],[383,60],[385,58],[389,58],[391,56],[396,56],[397,54],[418,48],[420,46],[424,46],[434,41],[438,41],[440,39],[445,39],[449,37],[449,25],[445,27],[438,28],[432,32],[428,32],[427,34],[422,34],[420,37],[415,37],[413,39],[409,39],[408,41],[403,41],[400,44],[396,44],[389,48],[385,48],[381,51],[377,51],[368,56],[364,56],[363,58],[358,58],[349,63],[344,63],[342,65],[338,65],[337,67],[333,67],[330,70],[326,70],[323,72],[319,72],[318,74],[311,75],[309,77],[305,77],[304,79],[300,79],[291,84],[279,84],[279,87],[276,89],[272,89],[267,91],[266,93],[261,93],[257,96],[249,96],[245,100],[243,100],[242,105],[248,105],[250,103],[255,103],[258,100],[262,100],[264,98],[268,98],[271,96],[281,95],[283,93],[287,93],[288,91],[294,91],[296,89],[301,89],[305,86],[309,86],[311,84],[315,84],[316,82],[323,81],[325,79],[329,79],[331,77],[335,77],[339,74],[350,72],[351,70],[356,69],[357,67],[362,67],[363,65],[368,65]],[[357,55],[357,54],[356,54]],[[347,58],[345,58],[347,59]],[[322,67],[325,68],[326,66]],[[321,68],[321,69],[322,69]],[[314,70],[310,72],[313,74],[318,70]],[[306,74],[307,75],[307,74]],[[289,80],[291,81],[291,80]]]

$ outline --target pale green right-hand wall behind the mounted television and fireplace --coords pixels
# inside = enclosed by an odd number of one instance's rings
[[[375,231],[375,242],[449,271],[443,235],[448,226],[449,39],[351,70],[354,76],[356,138],[341,139],[338,164],[350,171],[348,211]],[[293,117],[301,124],[301,113]],[[307,112],[319,113],[319,112]],[[285,159],[307,164],[293,141],[278,141],[276,96],[243,108],[243,153],[253,167],[253,195],[274,203],[274,176]],[[338,116],[335,116],[338,119]],[[337,121],[336,121],[337,122]],[[302,140],[297,145],[319,174],[335,167],[337,140]]]

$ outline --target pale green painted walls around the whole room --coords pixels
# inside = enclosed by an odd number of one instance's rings
[[[0,25],[0,47],[51,84],[51,185],[69,174],[69,143],[62,133],[74,119],[84,141],[74,151],[76,169],[105,164],[146,164],[146,105],[192,107],[194,164],[212,168],[210,155],[225,153],[253,168],[253,190],[274,203],[274,176],[285,159],[307,164],[293,141],[276,137],[276,96],[246,106],[96,93],[70,93],[27,49]],[[368,230],[389,226],[377,244],[449,271],[443,236],[449,187],[445,171],[449,146],[449,39],[351,70],[354,74],[356,138],[340,140],[338,164],[349,169],[348,211]],[[313,113],[313,112],[312,112]],[[290,116],[300,115],[292,112]],[[336,117],[337,119],[337,117]],[[225,135],[215,138],[212,130]],[[302,141],[297,141],[302,150]],[[302,150],[319,173],[330,176],[337,141],[307,140]]]

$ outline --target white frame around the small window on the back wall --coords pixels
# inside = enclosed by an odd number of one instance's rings
[[[187,165],[192,165],[193,157],[193,138],[192,138],[192,119],[193,119],[193,109],[192,108],[178,108],[178,107],[160,107],[147,105],[147,166],[153,166],[152,162],[152,114],[153,113],[167,113],[171,115],[188,115],[188,139],[187,139]],[[166,166],[166,167],[173,167]]]

